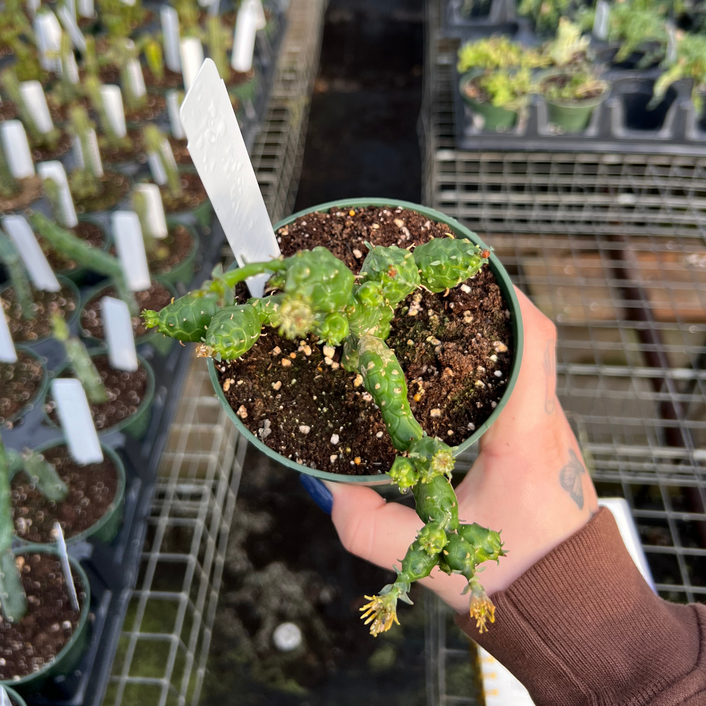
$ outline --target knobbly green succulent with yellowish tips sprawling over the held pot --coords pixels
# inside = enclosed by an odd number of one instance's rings
[[[467,580],[469,610],[479,630],[494,620],[495,608],[476,578],[477,565],[504,555],[500,536],[477,525],[460,525],[450,477],[453,448],[426,436],[407,402],[407,383],[385,338],[395,309],[418,287],[443,292],[473,277],[488,262],[489,251],[467,239],[432,239],[413,252],[369,245],[359,277],[323,247],[267,263],[212,273],[196,292],[162,311],[144,311],[148,328],[182,341],[201,342],[197,354],[217,360],[247,352],[263,326],[290,339],[317,335],[326,346],[343,344],[342,365],[360,376],[380,409],[390,440],[400,452],[390,477],[400,491],[412,489],[424,521],[397,570],[397,580],[367,597],[363,618],[372,635],[397,622],[397,600],[409,602],[413,581],[438,566]],[[268,297],[234,305],[233,287],[247,277],[271,273]],[[325,350],[326,354],[326,350]]]

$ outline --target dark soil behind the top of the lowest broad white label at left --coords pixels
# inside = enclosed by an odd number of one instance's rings
[[[100,405],[89,402],[90,413],[97,431],[105,431],[137,412],[147,390],[147,371],[141,365],[133,373],[114,370],[110,367],[107,355],[102,354],[92,356],[92,360],[108,390],[109,400]],[[73,378],[73,370],[67,368],[59,377]],[[47,395],[47,415],[59,426],[59,417],[54,411],[51,395]]]

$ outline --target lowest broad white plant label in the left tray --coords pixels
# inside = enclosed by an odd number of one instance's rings
[[[52,380],[52,397],[71,458],[80,465],[102,462],[103,451],[90,414],[88,397],[80,381],[55,378]]]

